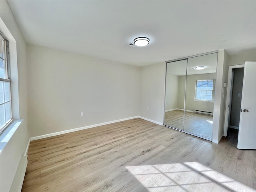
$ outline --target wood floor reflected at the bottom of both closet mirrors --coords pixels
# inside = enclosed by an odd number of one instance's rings
[[[183,113],[184,112],[182,110],[165,112],[164,124],[182,129]],[[193,112],[185,112],[184,131],[211,139],[212,116]]]

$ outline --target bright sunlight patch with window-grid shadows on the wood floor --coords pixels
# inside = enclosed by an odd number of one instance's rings
[[[198,162],[126,166],[150,192],[256,192]]]

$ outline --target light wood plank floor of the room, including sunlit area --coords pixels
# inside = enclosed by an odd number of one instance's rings
[[[139,118],[36,140],[22,192],[255,191],[256,151],[236,144]]]

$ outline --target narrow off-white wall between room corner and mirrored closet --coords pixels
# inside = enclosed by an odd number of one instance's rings
[[[164,122],[165,68],[165,62],[140,68],[139,116],[159,124]]]

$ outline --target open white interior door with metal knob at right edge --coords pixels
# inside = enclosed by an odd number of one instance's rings
[[[238,149],[256,149],[256,62],[245,62]]]

